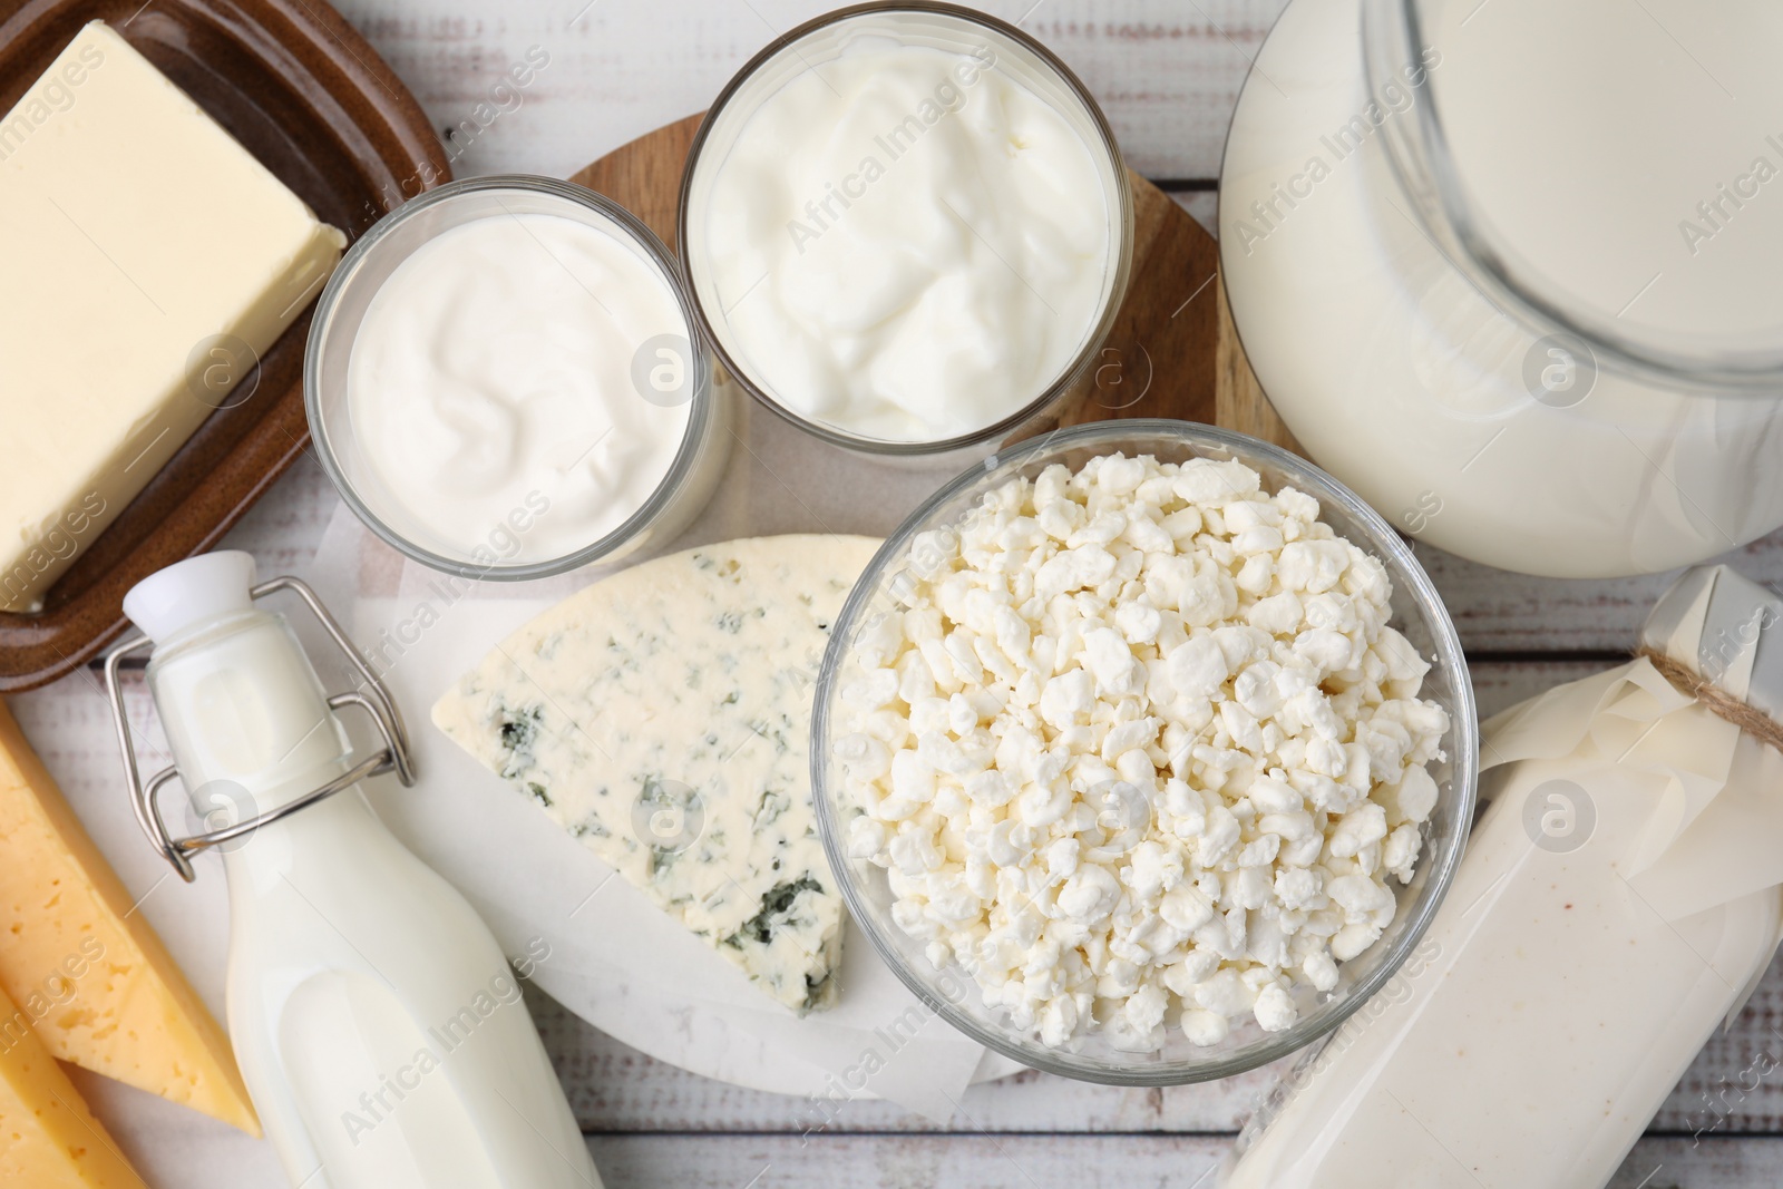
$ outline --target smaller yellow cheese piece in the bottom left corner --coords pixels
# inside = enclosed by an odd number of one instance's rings
[[[86,1100],[0,993],[0,1185],[148,1189]]]

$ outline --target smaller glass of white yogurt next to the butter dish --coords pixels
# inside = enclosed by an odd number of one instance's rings
[[[553,178],[455,182],[378,223],[323,291],[303,398],[360,521],[464,578],[674,537],[731,440],[667,248]]]

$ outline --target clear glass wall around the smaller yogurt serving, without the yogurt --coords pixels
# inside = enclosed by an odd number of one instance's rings
[[[640,399],[651,405],[688,405],[681,442],[667,472],[626,521],[560,556],[528,560],[503,556],[499,540],[465,547],[430,531],[382,481],[362,449],[348,383],[353,342],[373,298],[390,275],[421,246],[453,228],[517,214],[551,214],[592,226],[626,246],[661,278],[679,307],[685,335],[658,335],[640,344],[631,360],[633,383]],[[645,392],[649,364],[663,351],[672,353],[683,378],[667,398]],[[530,175],[440,185],[387,214],[353,244],[316,305],[303,358],[303,408],[323,471],[366,528],[423,565],[474,579],[547,578],[672,538],[711,497],[731,442],[727,403],[713,383],[711,357],[694,330],[694,314],[669,250],[610,198],[571,182]],[[494,519],[501,519],[501,510],[494,510]]]

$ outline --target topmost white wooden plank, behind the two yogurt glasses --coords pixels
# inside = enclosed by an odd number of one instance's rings
[[[1212,178],[1250,59],[1284,0],[995,0],[975,4],[1045,41],[1107,111],[1150,178]],[[460,176],[569,176],[711,102],[776,34],[824,0],[344,0],[440,128]],[[515,91],[503,73],[549,64]],[[471,130],[464,123],[471,121]]]

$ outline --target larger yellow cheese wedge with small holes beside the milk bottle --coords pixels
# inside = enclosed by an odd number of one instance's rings
[[[259,1136],[228,1037],[134,907],[0,704],[0,989],[55,1057]]]

